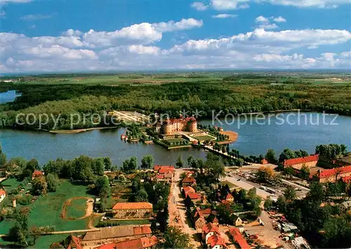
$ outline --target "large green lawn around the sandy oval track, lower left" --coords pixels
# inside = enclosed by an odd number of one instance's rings
[[[63,180],[58,191],[49,193],[47,196],[39,196],[37,201],[29,205],[29,208],[31,208],[28,215],[29,227],[54,226],[55,231],[86,229],[88,218],[84,220],[62,220],[60,217],[63,203],[69,198],[79,196],[93,197],[90,194],[86,194],[86,186],[74,185]],[[79,204],[81,206],[78,206]],[[80,215],[83,213],[81,208],[85,208],[85,206],[86,200],[74,201],[74,207],[77,210],[70,210],[73,206],[68,208],[68,210],[74,214],[74,217],[78,215],[81,217],[83,216]]]

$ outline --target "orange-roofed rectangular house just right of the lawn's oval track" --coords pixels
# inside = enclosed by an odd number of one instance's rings
[[[115,219],[150,219],[152,203],[148,202],[121,202],[112,208]]]

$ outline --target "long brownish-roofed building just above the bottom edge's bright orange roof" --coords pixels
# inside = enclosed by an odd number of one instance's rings
[[[98,245],[118,243],[121,241],[136,238],[151,238],[152,231],[150,226],[127,225],[117,227],[101,227],[98,231],[88,231],[80,238],[81,246],[84,249],[93,249]]]

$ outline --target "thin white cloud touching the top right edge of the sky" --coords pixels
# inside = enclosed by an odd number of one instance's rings
[[[269,2],[274,5],[294,6],[298,8],[336,8],[342,4],[349,4],[350,0],[256,0],[257,2]]]

